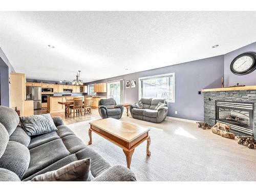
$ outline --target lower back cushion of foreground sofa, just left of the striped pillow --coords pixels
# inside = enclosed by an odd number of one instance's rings
[[[21,126],[17,126],[16,130],[10,136],[10,141],[17,141],[19,143],[24,144],[25,146],[29,145],[30,140],[30,136],[26,134],[26,132]]]

